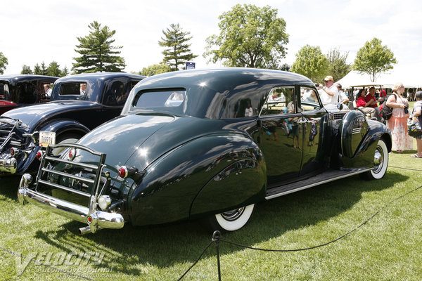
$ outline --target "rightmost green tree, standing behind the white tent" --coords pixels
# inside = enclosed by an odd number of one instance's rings
[[[393,65],[397,63],[392,51],[387,46],[382,46],[381,43],[382,41],[378,38],[366,41],[354,60],[354,70],[361,74],[369,74],[373,82],[379,77],[379,74],[392,70]]]

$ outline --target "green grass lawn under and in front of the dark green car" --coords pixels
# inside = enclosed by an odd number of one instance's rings
[[[390,154],[379,181],[353,176],[258,204],[250,223],[225,233],[225,240],[265,249],[312,247],[381,211],[342,240],[309,251],[254,251],[221,242],[222,280],[421,280],[422,188],[388,204],[422,185],[422,159],[409,157],[414,152]],[[81,223],[20,206],[18,181],[0,178],[0,280],[177,280],[212,238],[197,221],[80,236]],[[28,260],[17,253],[37,254],[36,262],[23,270]],[[183,280],[217,280],[215,253],[212,245]]]

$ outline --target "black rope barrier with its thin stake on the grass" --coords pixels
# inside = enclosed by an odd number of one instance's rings
[[[403,168],[402,168],[403,169]],[[350,235],[351,233],[353,233],[355,230],[358,230],[359,228],[362,228],[362,226],[364,226],[366,223],[368,223],[369,221],[371,221],[371,219],[374,217],[374,216],[376,216],[377,214],[379,214],[380,213],[380,211],[382,211],[383,209],[385,209],[385,207],[387,207],[388,205],[390,205],[390,204],[392,204],[392,202],[395,202],[395,201],[397,201],[397,200],[399,200],[399,199],[401,199],[401,198],[403,198],[403,197],[405,197],[405,196],[407,196],[407,195],[409,195],[410,193],[412,193],[412,192],[415,192],[416,190],[419,190],[419,189],[421,189],[422,188],[422,185],[421,186],[419,186],[418,188],[415,188],[414,190],[410,190],[410,191],[408,191],[408,192],[406,192],[406,193],[404,193],[404,194],[402,194],[402,195],[400,195],[399,197],[396,197],[395,199],[393,199],[393,200],[391,200],[390,202],[388,202],[387,204],[385,204],[384,205],[384,207],[382,207],[381,209],[378,209],[378,211],[376,211],[372,216],[370,216],[368,219],[366,219],[366,221],[364,221],[363,223],[361,223],[359,226],[357,226],[356,228],[354,228],[354,229],[352,229],[352,230],[350,230],[348,233],[345,233],[344,235],[341,235],[340,237],[338,237],[338,238],[336,238],[335,240],[332,240],[332,241],[330,241],[330,242],[326,242],[326,243],[324,243],[324,244],[319,244],[319,245],[316,245],[316,246],[313,246],[313,247],[307,247],[307,248],[300,248],[300,249],[262,249],[262,248],[255,248],[255,247],[250,247],[250,246],[246,246],[246,245],[243,245],[243,244],[238,244],[238,243],[236,243],[236,242],[231,242],[231,241],[228,241],[228,240],[224,240],[224,239],[222,239],[222,236],[220,235],[220,233],[219,233],[219,231],[215,231],[213,234],[212,234],[212,240],[211,240],[211,242],[210,242],[210,244],[208,244],[207,245],[207,247],[205,247],[205,249],[203,250],[203,252],[200,254],[200,256],[198,257],[198,259],[192,264],[192,266],[190,267],[190,268],[188,268],[188,270],[186,270],[185,271],[185,273],[183,274],[183,275],[181,275],[181,277],[177,280],[177,281],[179,281],[179,280],[181,280],[181,278],[183,278],[187,273],[188,273],[188,271],[189,270],[191,270],[191,268],[193,268],[193,266],[195,266],[196,265],[196,263],[198,263],[198,261],[200,260],[200,258],[201,258],[201,256],[203,256],[203,254],[205,253],[205,251],[210,247],[210,245],[212,244],[212,243],[216,243],[217,244],[217,261],[218,261],[218,264],[217,264],[217,266],[218,266],[218,268],[219,268],[219,250],[218,250],[218,245],[219,245],[219,242],[226,242],[226,243],[228,243],[228,244],[232,244],[232,245],[234,245],[234,246],[238,246],[238,247],[243,247],[243,248],[246,248],[246,249],[252,249],[252,250],[257,250],[257,251],[276,251],[276,252],[286,252],[286,251],[307,251],[307,250],[310,250],[310,249],[315,249],[315,248],[319,248],[319,247],[324,247],[324,246],[326,246],[326,245],[328,245],[328,244],[331,244],[331,243],[333,243],[333,242],[336,242],[336,241],[338,241],[338,240],[340,240],[340,239],[342,239],[342,238],[344,238],[344,237],[346,237],[347,235]],[[221,273],[220,273],[220,270],[218,270],[218,277],[219,277],[219,280],[221,280]]]

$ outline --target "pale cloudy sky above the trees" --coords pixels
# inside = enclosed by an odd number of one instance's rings
[[[422,2],[416,0],[349,1],[112,1],[112,0],[21,0],[6,1],[0,9],[0,51],[8,58],[5,74],[19,73],[22,66],[51,63],[72,67],[78,54],[77,37],[89,34],[88,25],[97,20],[116,30],[115,44],[123,46],[125,71],[160,63],[158,40],[171,23],[191,32],[191,49],[199,55],[197,68],[221,67],[203,58],[205,39],[218,34],[218,17],[236,4],[269,5],[286,20],[290,35],[283,63],[292,64],[302,46],[320,46],[349,52],[353,62],[366,41],[378,37],[398,60],[396,69],[418,72],[422,65]]]

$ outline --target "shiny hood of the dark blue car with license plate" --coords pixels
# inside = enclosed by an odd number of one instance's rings
[[[53,115],[99,106],[100,105],[97,103],[92,103],[87,100],[54,101],[51,103],[18,107],[5,112],[1,117],[19,119],[23,122],[24,126],[33,130],[40,122]]]

